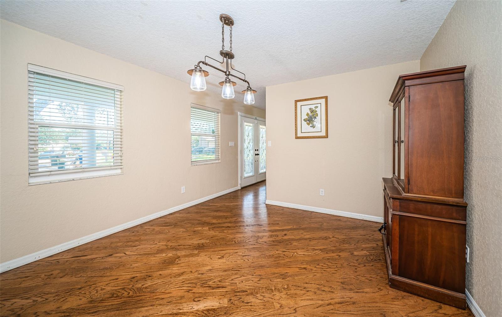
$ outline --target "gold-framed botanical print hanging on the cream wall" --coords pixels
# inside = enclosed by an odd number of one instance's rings
[[[328,96],[295,100],[295,138],[328,137]]]

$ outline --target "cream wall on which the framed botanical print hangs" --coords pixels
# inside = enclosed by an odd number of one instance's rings
[[[267,87],[267,200],[383,217],[389,97],[398,75],[418,70],[411,61]],[[328,138],[295,139],[295,99],[326,95]]]

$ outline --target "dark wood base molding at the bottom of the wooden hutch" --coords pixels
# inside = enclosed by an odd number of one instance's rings
[[[385,247],[385,235],[383,235],[382,238],[384,241],[384,250],[389,274],[389,286],[408,293],[439,301],[447,305],[455,306],[461,309],[466,308],[467,301],[465,294],[393,275],[390,269],[391,258],[388,254],[388,249]]]

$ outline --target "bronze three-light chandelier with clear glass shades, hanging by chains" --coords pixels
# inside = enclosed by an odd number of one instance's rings
[[[215,60],[212,57],[205,56],[203,61],[199,61],[196,65],[194,65],[193,69],[190,69],[187,71],[188,75],[192,76],[192,80],[190,81],[190,88],[195,91],[203,91],[206,90],[206,79],[205,77],[209,76],[209,73],[205,70],[202,69],[200,66],[201,64],[205,66],[209,66],[211,68],[214,68],[223,74],[225,74],[225,79],[220,82],[221,86],[221,97],[225,99],[232,99],[235,97],[235,92],[233,90],[233,86],[236,85],[234,81],[230,79],[230,76],[233,78],[236,78],[238,80],[241,80],[247,84],[247,88],[245,90],[242,90],[242,93],[244,94],[244,103],[245,104],[254,104],[255,103],[255,94],[256,90],[251,89],[251,86],[249,82],[246,80],[246,75],[242,72],[239,72],[238,70],[234,69],[232,67],[232,59],[234,59],[235,55],[232,53],[232,26],[234,25],[233,19],[229,15],[221,14],[219,16],[219,21],[221,22],[221,50],[220,50],[220,55],[223,58],[223,60],[220,62],[218,60]],[[225,50],[225,26],[230,28],[230,48],[229,50]],[[209,64],[206,59],[210,58],[213,61],[216,61],[221,64],[226,64],[226,69],[220,69],[216,66],[213,66]],[[240,73],[244,75],[244,78],[235,76],[230,72],[230,70],[233,70],[237,73]]]

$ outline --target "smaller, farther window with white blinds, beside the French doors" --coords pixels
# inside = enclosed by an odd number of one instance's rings
[[[192,104],[192,165],[220,162],[220,110]]]

